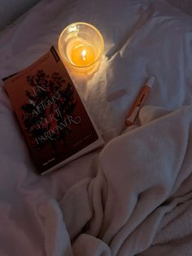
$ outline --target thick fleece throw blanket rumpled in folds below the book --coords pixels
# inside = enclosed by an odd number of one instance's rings
[[[146,106],[103,149],[94,179],[47,201],[47,256],[191,255],[192,105]]]

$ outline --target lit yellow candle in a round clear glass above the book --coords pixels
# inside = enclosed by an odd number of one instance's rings
[[[93,70],[103,55],[101,33],[91,24],[70,24],[59,36],[59,53],[65,64],[81,72]]]

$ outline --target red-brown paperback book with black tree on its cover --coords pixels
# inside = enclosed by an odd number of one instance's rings
[[[3,82],[39,174],[103,145],[54,46]]]

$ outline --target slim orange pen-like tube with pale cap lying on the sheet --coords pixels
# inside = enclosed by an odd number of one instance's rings
[[[146,101],[146,98],[149,95],[151,87],[153,86],[154,82],[155,82],[155,77],[151,77],[150,79],[148,79],[145,86],[142,86],[142,90],[140,90],[139,94],[137,95],[137,98],[135,99],[133,106],[129,111],[129,114],[125,119],[126,126],[133,125],[133,122],[135,121],[137,114],[142,108],[142,105]]]

